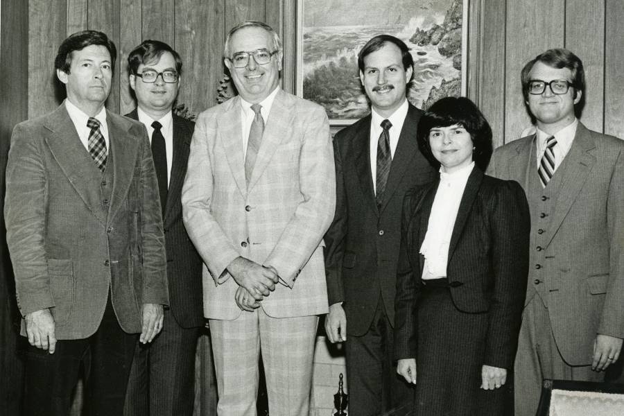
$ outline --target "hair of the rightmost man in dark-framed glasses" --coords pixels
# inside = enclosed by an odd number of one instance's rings
[[[583,69],[583,62],[578,58],[578,56],[574,55],[571,51],[563,48],[554,48],[548,49],[546,52],[542,52],[537,55],[534,59],[524,65],[522,71],[520,73],[520,79],[522,82],[522,94],[524,96],[524,101],[528,101],[528,87],[530,81],[530,72],[533,69],[533,66],[537,62],[542,62],[543,64],[548,65],[548,67],[562,69],[567,68],[572,71],[572,87],[574,88],[574,97],[576,97],[576,92],[580,91],[581,101],[584,101],[585,96],[585,70]],[[582,107],[581,101],[577,103],[578,107]]]

